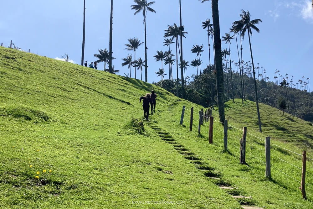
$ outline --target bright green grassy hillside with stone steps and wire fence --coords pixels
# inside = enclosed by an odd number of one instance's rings
[[[213,144],[208,144],[208,123],[201,135],[197,133],[196,112],[202,107],[160,87],[2,47],[0,78],[0,207],[313,206],[312,161],[307,162],[309,200],[304,201],[294,180],[300,180],[301,170],[280,160],[301,167],[300,156],[272,146],[272,179],[267,180],[265,165],[259,161],[265,161],[262,140],[248,135],[248,165],[240,165],[240,130],[229,129],[229,151],[224,152],[223,126],[214,122]],[[152,89],[158,94],[156,113],[142,126],[139,97]],[[195,109],[192,132],[190,107]],[[290,143],[278,139],[285,131],[276,132],[270,120],[277,116],[278,123],[280,112],[271,109],[275,115],[265,114],[265,108],[261,106],[262,123],[267,124],[264,132],[275,136],[272,143],[301,153],[297,139],[287,135],[284,139]],[[226,113],[233,118],[230,125],[248,126],[248,133],[264,138],[257,132],[252,105],[232,107]],[[216,111],[213,115],[217,120]],[[305,132],[298,129],[307,122],[286,117],[294,121],[282,121],[280,127],[301,142],[307,138],[303,133],[312,133],[309,124]],[[252,198],[232,197],[236,195]]]

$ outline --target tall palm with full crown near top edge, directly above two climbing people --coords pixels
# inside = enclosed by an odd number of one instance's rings
[[[136,5],[131,5],[131,9],[136,10],[136,12],[134,13],[134,15],[140,13],[142,11],[142,15],[144,17],[143,22],[145,24],[145,81],[148,82],[148,70],[147,70],[147,31],[146,31],[146,16],[147,16],[147,11],[150,12],[154,12],[156,13],[156,11],[154,9],[152,9],[150,6],[152,4],[154,4],[155,2],[149,2],[147,3],[146,0],[134,0],[134,2],[136,3]]]

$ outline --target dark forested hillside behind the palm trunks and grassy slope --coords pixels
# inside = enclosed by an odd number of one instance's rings
[[[244,73],[244,99],[255,101],[255,91],[254,91],[254,81],[253,77],[248,76],[249,74]],[[233,71],[233,93],[235,98],[243,98],[241,91],[241,82],[239,72]],[[216,104],[216,80],[214,74],[214,67],[211,68],[211,73],[209,67],[203,70],[201,76],[193,76],[193,81],[188,81],[186,78],[186,99],[191,102],[209,107],[212,104]],[[228,79],[227,79],[228,78]],[[242,79],[241,79],[242,80]],[[211,84],[213,88],[213,101],[211,95]],[[307,90],[300,90],[297,88],[286,86],[280,87],[279,81],[277,84],[272,81],[265,81],[264,79],[256,80],[259,102],[276,107],[279,109],[278,100],[282,97],[286,103],[286,90],[288,95],[289,109],[290,113],[306,121],[313,121],[313,93]],[[167,91],[172,92],[176,95],[176,81],[174,80],[162,80],[155,83],[157,86],[165,88]],[[181,82],[180,82],[181,85]],[[180,90],[180,88],[179,88]],[[226,98],[232,97],[231,91],[231,78],[226,75],[224,71],[224,95]],[[288,112],[288,106],[285,109]]]

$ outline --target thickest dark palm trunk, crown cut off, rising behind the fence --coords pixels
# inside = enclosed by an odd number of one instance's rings
[[[214,51],[216,67],[216,88],[218,98],[219,121],[224,123],[224,79],[223,79],[223,61],[222,61],[222,41],[219,29],[218,0],[212,0],[212,19],[214,26]]]

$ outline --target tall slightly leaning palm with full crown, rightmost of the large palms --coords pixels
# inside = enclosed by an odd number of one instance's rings
[[[243,38],[244,38],[245,32],[248,31],[250,54],[251,54],[252,69],[253,69],[253,78],[254,78],[255,100],[256,100],[258,119],[259,119],[259,129],[260,129],[260,132],[262,132],[261,118],[260,118],[260,111],[259,111],[258,91],[257,91],[257,86],[256,86],[256,80],[255,80],[254,62],[253,62],[251,39],[250,39],[250,35],[252,36],[252,30],[251,29],[254,29],[258,33],[260,32],[260,30],[255,25],[261,23],[262,20],[261,19],[251,20],[251,18],[250,18],[251,15],[250,15],[249,11],[242,10],[242,14],[239,14],[239,15],[241,17],[241,20],[235,21],[234,24],[242,28],[242,37]]]

